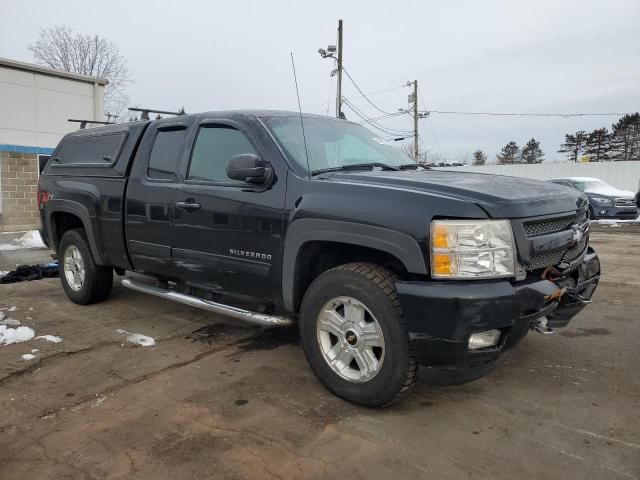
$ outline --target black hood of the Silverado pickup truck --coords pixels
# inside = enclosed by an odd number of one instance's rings
[[[408,189],[475,203],[493,218],[523,218],[585,208],[586,196],[539,180],[447,170],[336,172],[323,176],[340,183]],[[446,213],[446,212],[443,212]]]

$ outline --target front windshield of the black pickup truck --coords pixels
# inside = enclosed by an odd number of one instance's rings
[[[308,170],[300,117],[264,117],[262,120],[285,154]],[[399,148],[385,145],[373,132],[358,124],[331,118],[305,117],[303,121],[312,172],[361,163],[392,167],[415,163]]]

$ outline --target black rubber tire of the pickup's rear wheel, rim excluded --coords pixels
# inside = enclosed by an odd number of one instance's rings
[[[65,273],[64,255],[72,245],[79,250],[84,264],[85,277],[79,290],[74,290],[71,287]],[[62,235],[60,245],[58,246],[58,262],[60,265],[62,288],[72,302],[79,305],[88,305],[105,300],[111,293],[111,287],[113,286],[113,269],[96,264],[84,230],[67,230],[64,235]]]

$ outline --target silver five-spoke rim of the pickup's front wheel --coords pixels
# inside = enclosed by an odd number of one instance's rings
[[[336,297],[325,303],[318,314],[316,331],[322,356],[345,380],[367,382],[382,368],[382,328],[355,298]]]

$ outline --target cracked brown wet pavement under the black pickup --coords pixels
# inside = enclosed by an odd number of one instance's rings
[[[603,280],[570,327],[378,410],[325,391],[295,329],[120,286],[81,307],[57,279],[1,285],[11,317],[63,341],[0,346],[0,478],[640,479],[640,236],[592,243]]]

